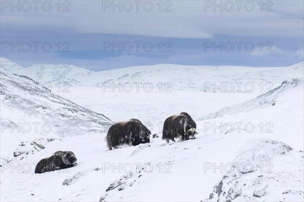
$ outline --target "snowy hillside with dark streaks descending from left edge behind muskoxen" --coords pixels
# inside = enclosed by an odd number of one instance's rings
[[[2,160],[40,150],[50,139],[104,132],[111,123],[26,76],[1,68],[0,78]]]

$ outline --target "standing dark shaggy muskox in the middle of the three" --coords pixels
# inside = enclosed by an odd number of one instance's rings
[[[111,150],[123,144],[136,146],[140,143],[150,142],[151,132],[137,119],[126,122],[118,122],[112,125],[107,134],[107,147]]]

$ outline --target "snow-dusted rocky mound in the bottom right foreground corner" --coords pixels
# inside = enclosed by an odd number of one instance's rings
[[[272,139],[250,139],[206,201],[298,201],[304,151]]]

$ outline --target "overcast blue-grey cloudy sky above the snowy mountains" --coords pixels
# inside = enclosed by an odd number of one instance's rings
[[[304,1],[3,1],[1,57],[22,66],[289,66]]]

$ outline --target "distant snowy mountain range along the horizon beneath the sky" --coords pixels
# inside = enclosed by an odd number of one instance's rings
[[[132,81],[133,86],[150,82],[157,88],[161,82],[164,89],[205,92],[251,92],[252,87],[253,92],[265,92],[282,81],[297,78],[304,69],[304,63],[284,68],[160,64],[99,72],[72,65],[36,64],[19,69],[15,68],[14,63],[11,66],[6,62],[6,68],[12,73],[28,76],[41,83],[49,82],[53,86],[58,82],[68,82],[70,86],[102,87]]]

